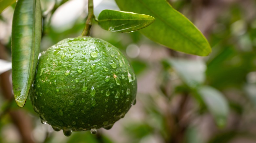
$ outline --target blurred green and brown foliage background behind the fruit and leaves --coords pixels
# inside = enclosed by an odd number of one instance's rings
[[[111,130],[66,137],[43,125],[31,101],[18,108],[11,71],[0,70],[0,142],[3,143],[254,143],[256,142],[256,1],[169,0],[212,46],[207,57],[165,48],[141,35],[112,33],[94,23],[91,36],[118,47],[138,79],[137,103]],[[114,0],[94,0],[96,17],[118,10]],[[79,36],[87,1],[41,0],[41,51]],[[13,8],[0,15],[1,68],[10,65]]]

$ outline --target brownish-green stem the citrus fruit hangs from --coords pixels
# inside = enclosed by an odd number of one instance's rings
[[[94,14],[93,14],[93,0],[88,0],[88,16],[87,20],[85,23],[84,30],[82,32],[82,36],[89,36],[90,35],[90,30],[92,27],[92,22],[93,22]]]

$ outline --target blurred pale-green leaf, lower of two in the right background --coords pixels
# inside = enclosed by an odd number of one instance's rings
[[[204,104],[213,115],[216,124],[224,127],[227,123],[229,107],[224,95],[217,89],[209,86],[203,86],[198,89]]]

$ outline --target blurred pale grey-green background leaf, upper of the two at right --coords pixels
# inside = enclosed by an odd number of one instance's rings
[[[205,81],[206,65],[202,60],[170,58],[167,63],[189,87],[196,88]]]

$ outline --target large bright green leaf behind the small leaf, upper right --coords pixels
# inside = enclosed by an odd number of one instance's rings
[[[151,15],[156,21],[140,32],[149,39],[173,50],[207,56],[211,52],[208,41],[184,15],[172,8],[166,0],[116,0],[118,7]]]

